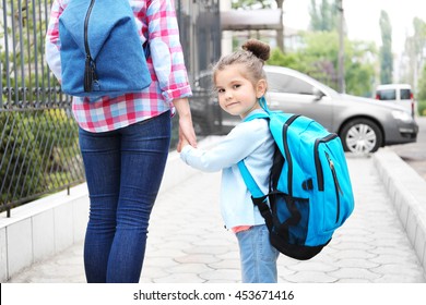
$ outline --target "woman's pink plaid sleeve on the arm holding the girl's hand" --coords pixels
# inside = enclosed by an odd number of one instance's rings
[[[174,1],[147,1],[146,19],[150,52],[164,98],[191,96]]]

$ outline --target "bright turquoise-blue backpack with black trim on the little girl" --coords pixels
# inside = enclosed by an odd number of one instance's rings
[[[244,160],[242,179],[270,232],[271,244],[284,255],[305,260],[331,241],[354,209],[350,173],[340,137],[301,115],[269,111],[245,121],[269,120],[276,148],[270,192],[263,194]]]

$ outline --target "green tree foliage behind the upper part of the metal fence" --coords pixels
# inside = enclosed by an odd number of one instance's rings
[[[9,89],[8,93],[13,91],[9,98],[15,102],[36,101],[40,87],[48,82],[49,69],[40,64],[44,62],[47,24],[44,20],[45,9],[39,2],[7,0],[0,4],[0,11],[8,21],[7,28],[0,21],[0,26],[4,28],[0,39],[8,41],[8,49],[5,44],[0,45],[3,73],[1,82],[3,88]],[[56,80],[51,80],[50,85],[55,84]],[[4,99],[8,99],[8,96],[4,96]]]

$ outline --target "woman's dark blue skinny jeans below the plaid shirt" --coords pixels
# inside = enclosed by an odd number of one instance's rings
[[[80,129],[91,200],[84,242],[87,282],[139,282],[170,125],[167,111],[111,132]]]

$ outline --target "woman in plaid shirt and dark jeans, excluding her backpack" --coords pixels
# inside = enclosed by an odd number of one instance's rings
[[[59,82],[58,24],[70,1],[54,0],[46,37],[46,60]],[[72,101],[91,199],[84,243],[87,282],[139,281],[175,109],[179,114],[178,151],[184,139],[197,146],[174,1],[129,3],[141,42],[150,46],[151,85],[114,98],[88,101],[73,97]]]

